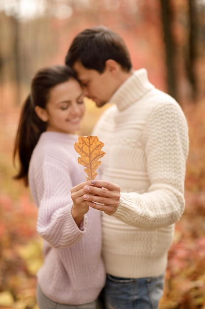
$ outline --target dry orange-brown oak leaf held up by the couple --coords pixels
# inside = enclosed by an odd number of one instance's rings
[[[101,148],[104,143],[100,142],[97,136],[80,136],[78,138],[79,143],[74,144],[74,148],[81,157],[78,157],[78,163],[82,164],[86,168],[84,171],[87,173],[87,180],[93,180],[97,176],[96,169],[101,164],[98,161],[99,158],[103,157],[104,151]]]

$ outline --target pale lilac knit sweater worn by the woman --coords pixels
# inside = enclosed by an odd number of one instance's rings
[[[90,208],[80,229],[71,214],[70,189],[86,181],[76,141],[77,135],[44,132],[29,165],[29,187],[38,206],[37,231],[44,239],[38,283],[47,297],[70,305],[93,302],[105,282],[101,212]]]

